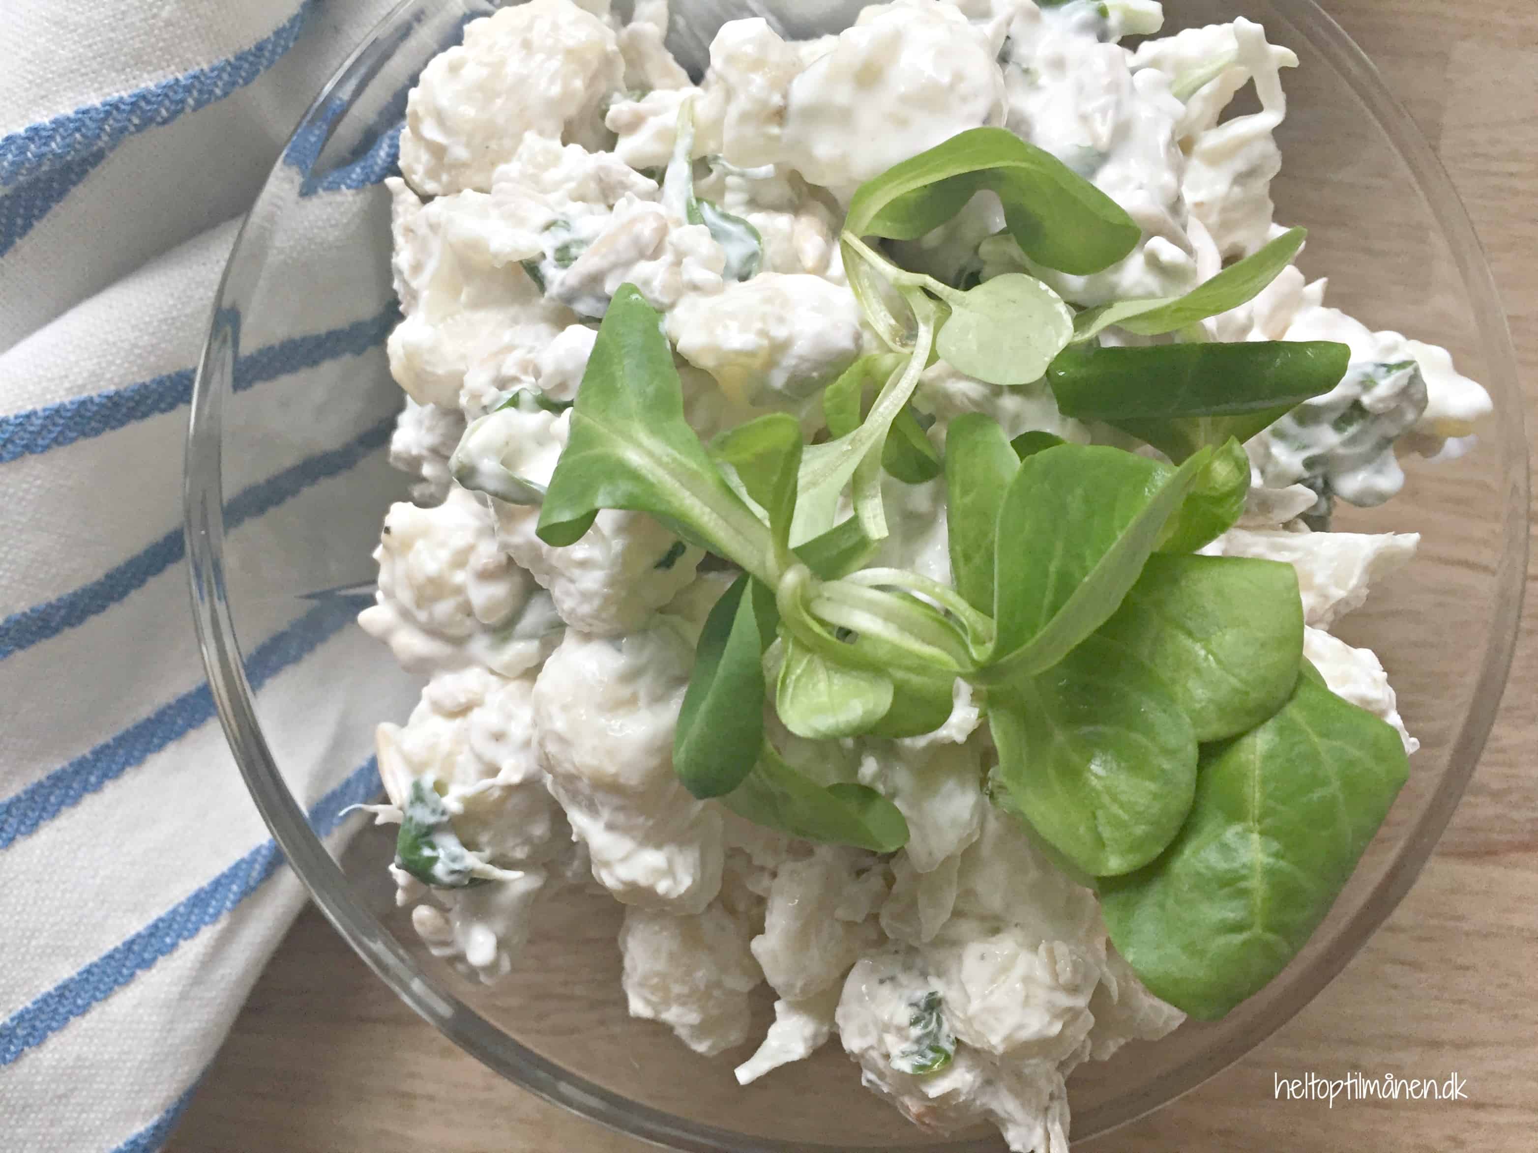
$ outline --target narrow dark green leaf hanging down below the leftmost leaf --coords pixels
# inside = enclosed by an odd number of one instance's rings
[[[764,736],[763,655],[774,593],[747,573],[711,609],[674,730],[674,772],[698,798],[723,796],[752,772]]]

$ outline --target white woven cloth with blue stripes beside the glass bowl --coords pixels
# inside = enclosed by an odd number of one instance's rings
[[[160,1148],[303,899],[203,684],[181,440],[238,218],[320,85],[392,6],[0,5],[6,1150]],[[381,195],[317,191],[311,243],[343,246]],[[241,403],[301,406],[384,372],[389,314],[328,300],[243,334]],[[226,463],[226,498],[252,490],[232,533],[281,549],[306,503],[337,492],[326,486],[383,467],[378,432],[360,438],[345,415],[315,420],[312,457]],[[258,613],[243,641],[258,701],[288,713],[372,644],[325,604]],[[314,764],[297,792],[331,833],[377,776],[363,727],[317,712],[277,752]]]

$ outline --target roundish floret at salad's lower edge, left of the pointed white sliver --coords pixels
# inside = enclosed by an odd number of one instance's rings
[[[751,936],[746,919],[720,901],[684,916],[626,909],[620,952],[631,1016],[661,1021],[701,1056],[743,1044],[747,995],[763,981]]]

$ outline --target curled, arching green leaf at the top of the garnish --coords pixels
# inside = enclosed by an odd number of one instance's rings
[[[1143,231],[1067,164],[1003,128],[974,128],[867,180],[849,201],[857,237],[917,240],[992,189],[1020,248],[1047,267],[1087,275],[1115,264]]]

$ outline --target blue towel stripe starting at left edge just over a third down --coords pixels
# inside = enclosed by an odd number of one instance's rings
[[[314,369],[340,357],[361,355],[380,344],[398,318],[400,312],[391,304],[368,320],[260,347],[235,364],[235,390]],[[195,374],[195,369],[177,369],[120,389],[0,417],[0,464],[172,412],[192,398]]]

